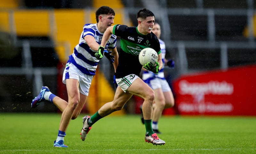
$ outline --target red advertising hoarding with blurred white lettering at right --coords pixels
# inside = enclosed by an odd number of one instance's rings
[[[181,115],[256,115],[256,65],[181,76],[173,82]]]

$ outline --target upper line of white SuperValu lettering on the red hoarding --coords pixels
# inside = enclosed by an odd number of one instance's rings
[[[180,94],[195,95],[198,93],[215,94],[215,95],[231,95],[234,92],[234,85],[226,81],[209,81],[209,82],[193,82],[186,80],[179,82]]]

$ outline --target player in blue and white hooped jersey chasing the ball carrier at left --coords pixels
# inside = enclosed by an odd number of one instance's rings
[[[63,83],[66,84],[68,91],[68,102],[52,94],[49,88],[44,86],[31,103],[31,107],[36,108],[42,101],[48,100],[62,111],[59,133],[54,141],[54,147],[68,147],[64,144],[65,132],[70,120],[76,119],[86,102],[92,78],[99,63],[95,52],[98,51],[103,33],[114,23],[115,11],[108,6],[100,7],[95,14],[97,23],[84,25],[79,44],[69,56],[63,73]],[[115,35],[109,37],[105,47],[110,51],[103,49],[102,54],[113,63],[116,71],[118,53]]]

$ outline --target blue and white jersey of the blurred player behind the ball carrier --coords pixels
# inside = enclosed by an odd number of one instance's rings
[[[159,43],[160,43],[160,48],[161,48],[161,53],[162,53],[162,61],[163,61],[163,67],[162,69],[158,72],[158,74],[154,74],[151,71],[144,71],[142,74],[142,80],[146,83],[149,83],[150,80],[154,79],[154,78],[161,78],[165,80],[164,77],[164,58],[165,58],[165,43],[163,40],[158,39]]]

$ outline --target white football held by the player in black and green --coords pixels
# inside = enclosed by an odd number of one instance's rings
[[[158,54],[152,48],[144,48],[140,51],[139,61],[142,66],[144,66],[148,62],[152,62],[153,65],[155,65],[158,61]]]

